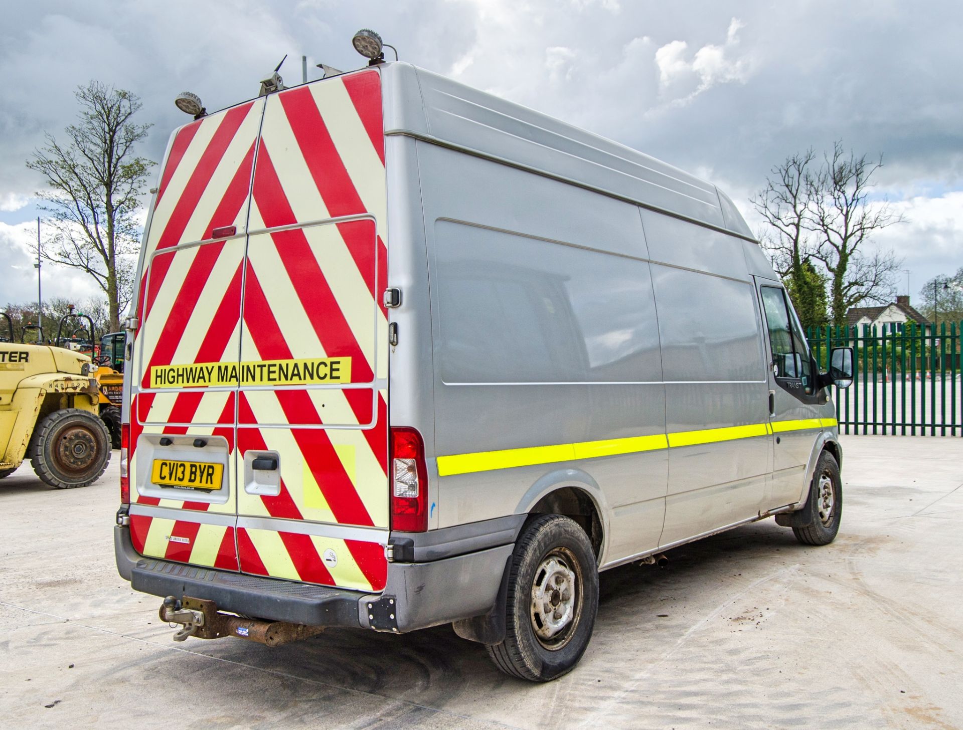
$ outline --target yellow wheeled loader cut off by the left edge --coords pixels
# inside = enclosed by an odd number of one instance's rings
[[[0,342],[0,479],[25,458],[42,482],[58,489],[95,482],[111,458],[100,420],[91,358],[47,345]]]

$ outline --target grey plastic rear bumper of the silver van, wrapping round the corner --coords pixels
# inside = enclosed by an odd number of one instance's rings
[[[387,584],[377,594],[144,558],[127,527],[114,528],[114,550],[117,571],[144,593],[204,598],[222,611],[306,626],[403,633],[488,613],[525,516],[405,534],[405,542],[414,544],[399,552],[435,560],[389,562]]]

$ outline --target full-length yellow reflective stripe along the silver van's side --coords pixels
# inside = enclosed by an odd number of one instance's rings
[[[452,477],[456,474],[496,471],[511,469],[516,466],[577,461],[584,458],[616,456],[619,454],[638,454],[639,452],[674,449],[681,446],[697,446],[699,444],[734,441],[740,438],[754,438],[788,430],[820,429],[836,425],[835,418],[805,418],[796,421],[774,421],[771,424],[727,426],[722,429],[685,430],[669,434],[657,433],[651,436],[583,441],[574,444],[531,446],[524,449],[504,449],[475,454],[453,454],[437,457],[438,476]]]

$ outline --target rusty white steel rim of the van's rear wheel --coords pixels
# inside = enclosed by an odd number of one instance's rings
[[[570,550],[555,548],[542,558],[530,606],[538,643],[551,651],[567,644],[582,613],[582,571]]]

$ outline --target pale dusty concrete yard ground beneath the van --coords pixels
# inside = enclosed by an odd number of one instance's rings
[[[963,439],[844,437],[839,538],[772,520],[602,575],[575,671],[531,685],[451,627],[173,643],[114,567],[117,452],[0,483],[7,727],[963,727]]]

